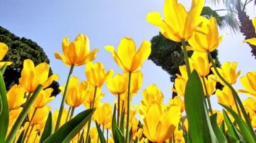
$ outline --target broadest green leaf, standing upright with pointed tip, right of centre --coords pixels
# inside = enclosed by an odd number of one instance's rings
[[[193,70],[185,89],[185,108],[191,142],[218,142],[208,115],[201,80]]]

